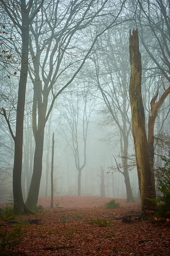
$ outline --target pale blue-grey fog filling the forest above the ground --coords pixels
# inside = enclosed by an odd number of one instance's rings
[[[166,92],[154,123],[155,169],[169,149],[170,133],[170,29],[161,18],[166,4],[149,2],[36,0],[11,8],[10,0],[0,1],[1,203],[13,200],[18,183],[28,207],[37,204],[34,191],[51,196],[53,133],[54,196],[139,199],[130,29],[139,32],[146,134],[150,102]]]

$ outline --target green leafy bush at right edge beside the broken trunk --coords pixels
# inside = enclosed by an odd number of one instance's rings
[[[158,208],[156,215],[170,218],[170,151],[168,151],[167,157],[162,156],[161,159],[164,161],[164,166],[156,171],[160,191],[157,196]]]

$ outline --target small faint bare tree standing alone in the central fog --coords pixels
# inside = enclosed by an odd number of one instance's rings
[[[74,154],[75,166],[78,171],[78,195],[81,195],[81,174],[86,165],[88,125],[95,106],[94,99],[90,100],[89,96],[89,91],[78,91],[77,93],[70,91],[69,98],[64,100],[65,105],[59,108],[61,117],[65,119],[65,123],[62,125],[71,135],[70,141],[65,131],[64,138]]]

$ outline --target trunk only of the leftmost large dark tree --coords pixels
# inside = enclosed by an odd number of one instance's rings
[[[20,81],[19,81],[19,87],[18,87],[14,168],[13,168],[13,197],[14,197],[15,213],[24,212],[24,208],[25,208],[25,204],[23,201],[22,188],[21,188],[21,173],[22,173],[22,160],[23,160],[23,120],[24,120],[24,108],[25,108],[25,99],[26,99],[26,82],[27,82],[27,75],[28,75],[28,40],[29,40],[29,19],[28,19],[28,13],[24,12],[25,7],[26,5],[21,6],[22,52],[21,52]]]

